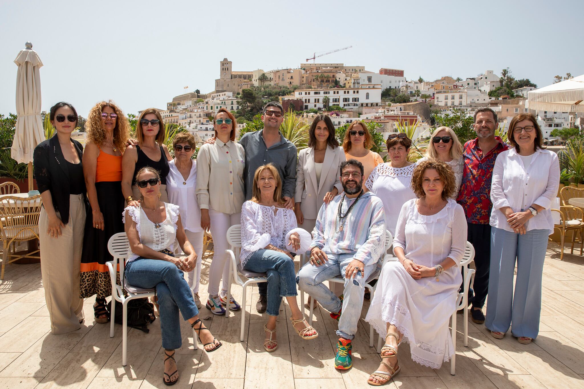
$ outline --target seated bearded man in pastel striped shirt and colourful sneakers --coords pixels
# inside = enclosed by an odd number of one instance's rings
[[[350,369],[351,341],[363,307],[365,283],[378,274],[385,243],[383,203],[363,192],[363,165],[350,159],[340,164],[344,192],[318,212],[310,263],[298,272],[300,289],[318,300],[339,320],[336,369]],[[345,290],[339,298],[323,282],[341,275]]]

